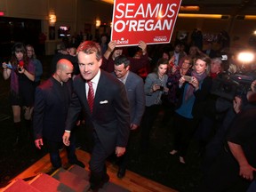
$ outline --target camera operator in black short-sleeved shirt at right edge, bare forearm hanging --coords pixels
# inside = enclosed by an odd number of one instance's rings
[[[198,191],[246,191],[256,171],[256,81],[251,84],[252,91],[246,94],[246,101],[235,97],[234,117],[226,132],[224,146],[216,156],[209,172]],[[252,189],[252,188],[251,188]]]

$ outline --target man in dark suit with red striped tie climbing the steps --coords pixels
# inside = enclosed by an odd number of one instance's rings
[[[124,155],[130,133],[129,101],[124,84],[115,76],[100,70],[102,59],[99,44],[85,41],[79,45],[77,52],[80,75],[74,80],[63,142],[69,145],[70,131],[84,108],[85,121],[91,124],[94,141],[89,163],[90,183],[92,190],[98,191],[109,180],[106,158],[115,149],[116,156]]]

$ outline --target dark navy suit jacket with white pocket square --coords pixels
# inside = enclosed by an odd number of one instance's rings
[[[101,70],[91,113],[86,100],[85,80],[81,75],[76,76],[66,130],[72,129],[82,108],[86,112],[85,121],[92,122],[102,146],[109,154],[116,146],[126,147],[130,133],[130,113],[124,84]]]

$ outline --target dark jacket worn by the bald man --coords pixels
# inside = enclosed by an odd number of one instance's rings
[[[33,128],[36,139],[62,140],[68,104],[72,95],[71,80],[62,86],[53,77],[36,87]]]

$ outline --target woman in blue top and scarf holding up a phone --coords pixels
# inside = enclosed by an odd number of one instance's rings
[[[189,142],[196,130],[204,104],[212,86],[209,76],[211,59],[206,55],[196,58],[191,78],[181,76],[179,80],[180,104],[174,116],[174,143],[171,155],[179,151],[180,163],[185,164]]]

